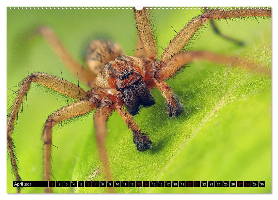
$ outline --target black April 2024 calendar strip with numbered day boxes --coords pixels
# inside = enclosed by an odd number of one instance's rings
[[[265,187],[265,181],[13,181],[13,187]]]

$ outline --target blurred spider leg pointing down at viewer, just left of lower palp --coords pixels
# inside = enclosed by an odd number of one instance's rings
[[[99,109],[97,109],[94,113],[94,127],[96,133],[96,143],[98,145],[98,152],[100,161],[104,168],[105,178],[106,180],[113,180],[111,175],[111,169],[108,160],[108,154],[105,147],[105,137],[107,134],[107,120],[113,111],[112,100],[113,95],[105,96],[100,103]],[[107,188],[109,193],[115,193],[113,187]]]

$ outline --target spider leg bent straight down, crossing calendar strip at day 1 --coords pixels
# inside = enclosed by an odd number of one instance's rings
[[[73,117],[84,115],[96,108],[96,103],[92,101],[76,101],[68,106],[52,113],[46,120],[42,139],[44,141],[44,180],[50,181],[50,159],[52,146],[52,127],[57,123],[62,122]],[[51,187],[46,187],[45,193],[51,193]]]

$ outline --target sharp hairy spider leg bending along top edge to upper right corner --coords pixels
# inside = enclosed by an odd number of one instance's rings
[[[180,53],[190,38],[196,33],[200,26],[209,19],[228,19],[234,17],[271,17],[271,9],[242,9],[242,10],[210,10],[192,19],[166,47],[161,55],[161,60],[166,62],[175,54]]]

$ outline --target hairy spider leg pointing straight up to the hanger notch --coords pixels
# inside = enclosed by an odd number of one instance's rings
[[[145,7],[142,10],[134,8],[135,20],[137,23],[138,35],[144,47],[145,53],[151,59],[157,58],[157,46],[153,31],[151,29],[150,20]]]

